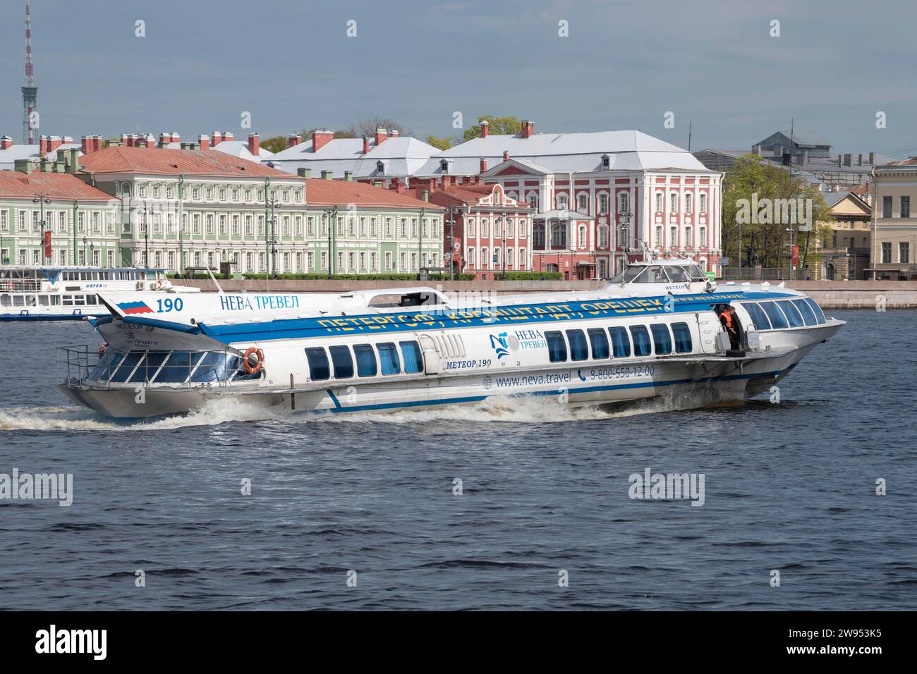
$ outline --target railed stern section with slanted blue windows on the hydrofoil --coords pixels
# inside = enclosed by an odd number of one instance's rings
[[[57,380],[70,388],[210,388],[257,380],[242,357],[229,349],[102,350],[88,346],[57,349]]]

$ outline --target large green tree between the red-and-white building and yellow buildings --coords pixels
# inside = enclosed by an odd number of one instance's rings
[[[795,220],[791,216],[788,218],[787,206],[798,204],[799,199],[805,204],[811,199],[812,212],[797,210]],[[800,231],[799,220],[803,219],[803,214],[806,215],[804,219],[812,223],[810,231]],[[739,157],[733,168],[726,171],[722,243],[725,256],[735,255],[735,266],[741,258],[743,267],[755,264],[780,267],[790,255],[788,229],[795,232],[794,242],[800,247],[801,263],[817,261],[814,251],[820,234],[817,224],[830,217],[830,210],[815,185],[783,167],[765,164],[757,155]]]

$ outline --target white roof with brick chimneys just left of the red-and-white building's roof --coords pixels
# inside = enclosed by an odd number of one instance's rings
[[[343,178],[344,171],[350,171],[355,178],[382,178],[414,175],[438,151],[417,138],[390,136],[379,145],[370,140],[367,154],[363,154],[362,138],[333,138],[313,152],[312,140],[308,139],[277,152],[271,157],[271,163],[291,173],[299,168],[311,169],[313,177],[321,175],[321,171],[332,171],[332,177]],[[380,160],[385,162],[381,173],[377,166]]]

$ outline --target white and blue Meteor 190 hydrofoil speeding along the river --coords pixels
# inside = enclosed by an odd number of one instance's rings
[[[669,393],[744,400],[844,325],[806,295],[768,285],[471,307],[430,288],[101,299],[111,310],[94,321],[104,350],[61,348],[59,375],[73,401],[116,418],[182,414],[226,397],[326,414],[492,396],[572,406]],[[723,304],[735,307],[740,345],[714,310]]]

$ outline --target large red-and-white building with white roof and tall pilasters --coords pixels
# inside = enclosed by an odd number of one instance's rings
[[[536,134],[524,121],[522,133],[495,136],[483,124],[481,137],[438,153],[415,176],[477,176],[529,204],[533,271],[608,277],[652,250],[720,272],[722,174],[640,131]]]

